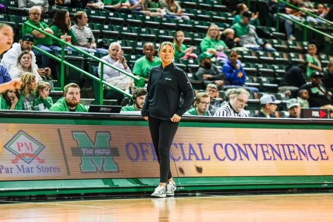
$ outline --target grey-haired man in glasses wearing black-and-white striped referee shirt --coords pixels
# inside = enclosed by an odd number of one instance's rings
[[[250,93],[244,88],[236,88],[228,96],[229,101],[217,109],[214,117],[248,117],[244,108]]]

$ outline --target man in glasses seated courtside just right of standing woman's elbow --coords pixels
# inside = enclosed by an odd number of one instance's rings
[[[209,112],[210,96],[205,92],[199,92],[195,96],[194,107],[189,109],[185,115],[211,116]]]

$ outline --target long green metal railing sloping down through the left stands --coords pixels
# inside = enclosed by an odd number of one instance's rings
[[[31,24],[28,24],[28,23],[25,23],[25,25],[27,25],[27,26],[29,26],[31,28],[36,29],[37,31],[45,34],[48,37],[51,37],[52,40],[55,40],[55,41],[58,41],[58,42],[61,43],[61,45],[62,45],[61,58],[58,58],[55,55],[53,55],[51,53],[48,53],[47,51],[44,51],[44,50],[36,47],[35,45],[33,46],[34,49],[42,52],[43,54],[47,55],[51,59],[53,59],[53,60],[55,60],[57,62],[60,62],[60,64],[61,64],[61,79],[58,80],[58,81],[61,81],[61,90],[64,90],[64,86],[65,86],[65,65],[66,65],[69,68],[71,68],[71,69],[73,69],[73,70],[75,70],[77,72],[80,72],[80,73],[86,75],[87,77],[89,77],[89,78],[91,78],[91,79],[99,82],[99,89],[100,89],[99,90],[99,104],[103,104],[103,88],[104,88],[104,85],[112,88],[113,90],[115,90],[117,92],[120,92],[120,93],[122,93],[122,94],[124,94],[124,95],[126,95],[126,96],[128,96],[130,98],[132,98],[131,94],[129,94],[129,93],[127,93],[127,92],[119,89],[118,87],[110,85],[108,82],[106,82],[106,81],[103,80],[104,66],[100,66],[100,78],[97,78],[96,76],[91,75],[90,73],[86,72],[85,70],[82,70],[82,69],[80,69],[80,68],[78,68],[78,67],[76,67],[76,66],[74,66],[74,65],[72,65],[70,63],[68,63],[67,61],[65,61],[65,46],[69,46],[69,47],[73,48],[74,50],[78,51],[79,53],[85,55],[86,57],[92,58],[95,61],[98,61],[99,63],[101,63],[103,65],[106,65],[106,66],[108,66],[108,67],[110,67],[112,69],[115,69],[118,72],[123,73],[123,74],[125,74],[125,75],[127,75],[127,76],[129,76],[129,77],[131,77],[133,79],[139,80],[140,79],[139,77],[137,77],[137,76],[135,76],[135,75],[133,75],[131,73],[125,72],[125,71],[123,71],[123,70],[121,70],[121,69],[119,69],[119,68],[117,68],[117,67],[115,67],[113,65],[110,65],[110,64],[104,62],[103,60],[99,59],[98,57],[95,57],[94,55],[90,54],[89,52],[83,51],[82,49],[77,48],[74,45],[72,45],[72,44],[70,44],[68,42],[65,42],[64,40],[62,40],[60,38],[57,38],[54,35],[51,35],[51,34],[45,32],[44,30],[42,30],[42,29],[40,29],[40,28],[38,28],[38,27],[36,27],[34,25],[31,25]]]

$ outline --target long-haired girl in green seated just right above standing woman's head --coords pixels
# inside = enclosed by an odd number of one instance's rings
[[[193,53],[194,46],[187,47],[183,44],[185,40],[185,33],[183,31],[177,31],[174,36],[175,46],[175,59],[198,59],[198,55]]]

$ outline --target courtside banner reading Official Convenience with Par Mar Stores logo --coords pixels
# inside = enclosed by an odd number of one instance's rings
[[[0,124],[0,181],[158,178],[148,127]],[[174,177],[333,175],[333,131],[180,127]]]

